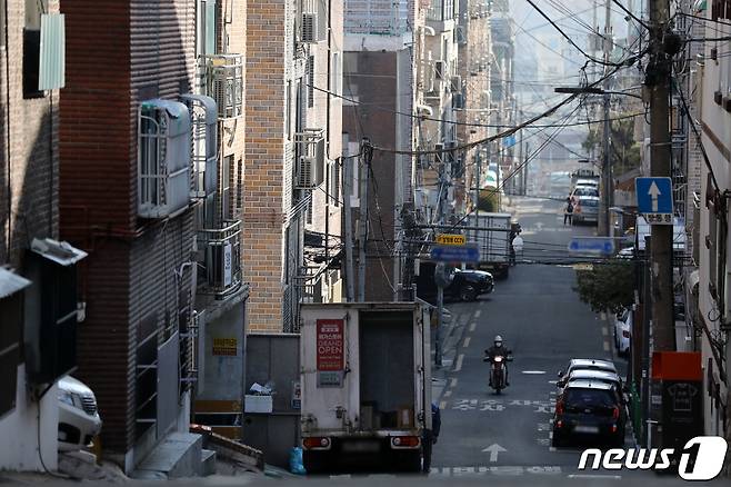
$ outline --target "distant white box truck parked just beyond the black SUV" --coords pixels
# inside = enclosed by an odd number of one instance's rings
[[[475,211],[467,217],[467,241],[477,242],[480,261],[475,267],[495,278],[510,272],[510,213]]]

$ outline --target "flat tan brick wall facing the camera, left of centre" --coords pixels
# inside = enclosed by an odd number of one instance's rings
[[[247,7],[247,173],[243,191],[244,280],[251,282],[249,329],[281,331],[284,88],[288,43],[286,0]],[[291,170],[291,169],[290,169]]]

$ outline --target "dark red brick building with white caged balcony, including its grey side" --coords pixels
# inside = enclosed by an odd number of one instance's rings
[[[196,10],[61,1],[60,233],[89,252],[78,376],[97,394],[104,456],[124,471],[189,423],[194,208],[179,97],[196,85]]]

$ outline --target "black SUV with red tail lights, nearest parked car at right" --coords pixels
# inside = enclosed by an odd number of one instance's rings
[[[605,440],[615,447],[624,445],[627,416],[617,394],[607,382],[567,384],[555,400],[553,446],[563,446],[570,438]]]

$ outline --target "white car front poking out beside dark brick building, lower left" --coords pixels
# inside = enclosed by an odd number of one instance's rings
[[[78,450],[90,446],[101,431],[101,418],[93,391],[81,380],[66,376],[59,380],[59,449]]]

